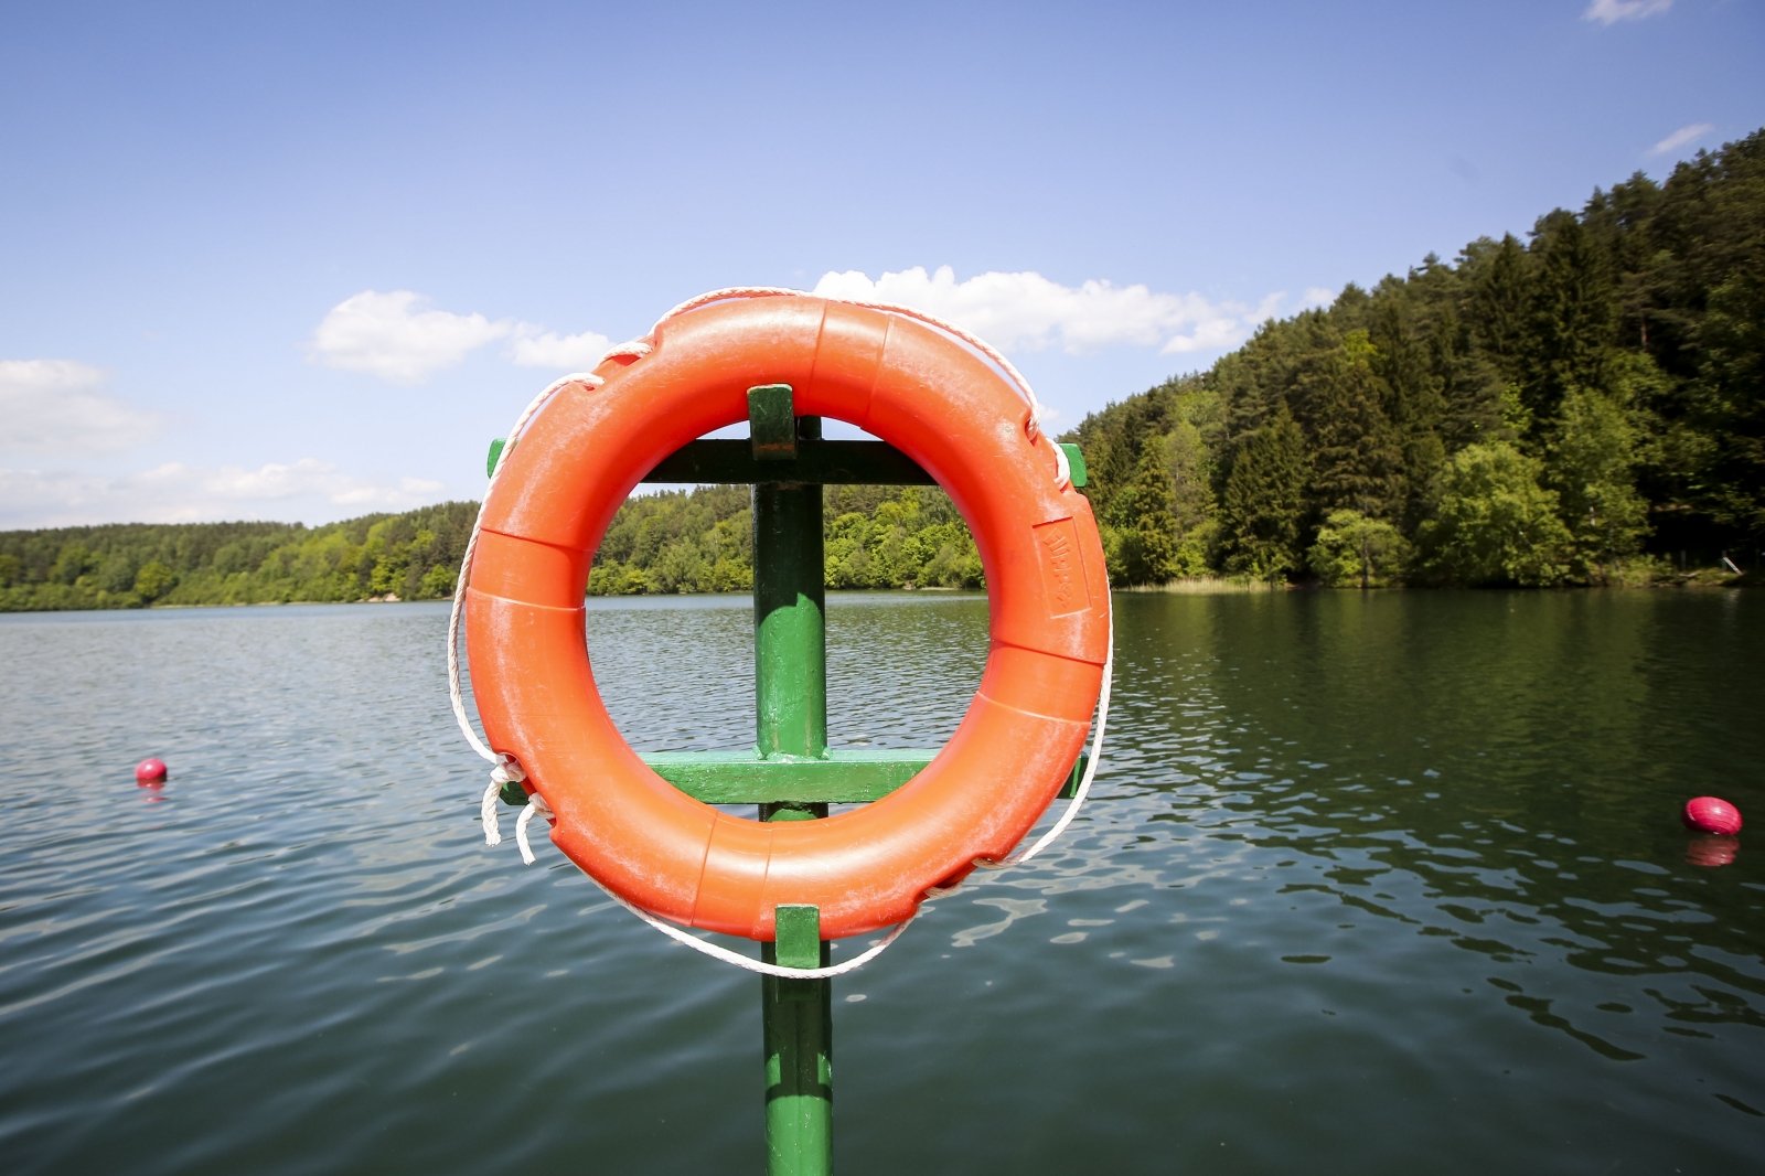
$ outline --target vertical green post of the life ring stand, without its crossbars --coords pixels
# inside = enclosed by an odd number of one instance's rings
[[[796,438],[821,436],[821,422],[796,420],[789,404],[787,387],[748,392],[755,459],[791,459]],[[821,514],[821,486],[754,484],[754,738],[762,759],[819,759],[828,750]],[[826,805],[761,805],[762,821],[826,814]],[[828,961],[815,908],[778,908],[777,920],[777,943],[762,945],[761,959],[791,968]],[[762,976],[761,1010],[766,1171],[826,1176],[833,1171],[833,987]]]

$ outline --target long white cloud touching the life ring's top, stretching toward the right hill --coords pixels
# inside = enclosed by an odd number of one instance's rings
[[[1198,293],[1085,281],[1063,286],[1041,274],[978,274],[957,281],[948,265],[886,272],[828,272],[815,293],[860,302],[897,302],[951,321],[1001,351],[1061,346],[1078,355],[1105,346],[1149,346],[1170,355],[1243,343],[1283,295],[1260,305],[1211,302]]]

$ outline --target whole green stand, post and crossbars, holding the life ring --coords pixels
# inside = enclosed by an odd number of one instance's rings
[[[754,486],[754,750],[651,752],[662,779],[706,803],[757,803],[762,821],[814,821],[831,803],[886,796],[932,761],[934,750],[828,750],[828,650],[822,583],[822,486],[935,486],[886,441],[828,441],[817,417],[798,417],[789,385],[748,388],[748,440],[697,440],[651,470],[646,482]],[[1073,486],[1085,484],[1077,445],[1064,445]],[[503,441],[491,445],[496,470]],[[1085,759],[1073,765],[1071,796]],[[503,798],[526,803],[519,784]],[[780,906],[777,941],[761,959],[785,968],[830,962],[814,906]],[[766,1171],[833,1171],[833,985],[761,976],[766,1047]]]

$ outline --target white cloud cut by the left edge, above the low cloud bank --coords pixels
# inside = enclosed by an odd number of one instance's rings
[[[159,420],[104,388],[104,373],[78,360],[0,360],[0,447],[35,454],[129,449]]]

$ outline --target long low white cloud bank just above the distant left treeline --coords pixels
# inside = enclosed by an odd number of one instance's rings
[[[168,463],[139,473],[0,470],[0,528],[217,519],[339,519],[409,510],[447,487],[427,479],[369,480],[302,457],[256,470]]]

